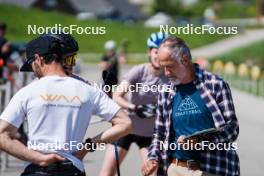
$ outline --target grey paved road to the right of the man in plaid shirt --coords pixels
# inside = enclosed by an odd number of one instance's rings
[[[264,99],[233,90],[233,97],[240,124],[238,151],[241,173],[244,176],[263,175],[264,156]]]

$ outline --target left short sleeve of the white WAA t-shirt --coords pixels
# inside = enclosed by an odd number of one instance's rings
[[[4,112],[1,114],[0,119],[4,120],[15,127],[19,128],[23,123],[26,113],[22,107],[23,98],[20,96],[21,93],[18,92],[13,96]]]

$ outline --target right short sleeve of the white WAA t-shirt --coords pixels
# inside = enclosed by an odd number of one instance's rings
[[[121,109],[112,99],[110,99],[103,91],[96,89],[94,92],[94,115],[98,115],[103,119],[110,121],[115,114]]]

